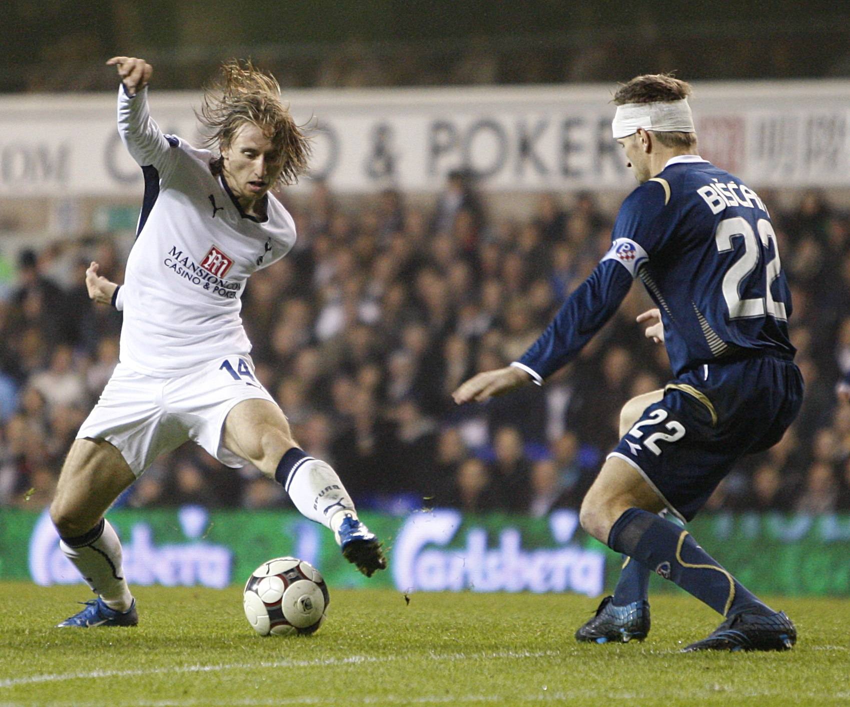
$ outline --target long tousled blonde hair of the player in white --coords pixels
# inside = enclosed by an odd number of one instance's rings
[[[260,71],[251,60],[225,62],[218,77],[204,87],[201,111],[195,111],[195,115],[207,128],[204,144],[211,149],[229,147],[245,123],[260,128],[282,162],[275,186],[295,184],[298,175],[307,169],[309,137],[280,100],[280,85],[275,77]],[[213,160],[210,166],[214,173],[220,172],[222,158]]]

